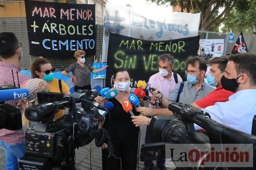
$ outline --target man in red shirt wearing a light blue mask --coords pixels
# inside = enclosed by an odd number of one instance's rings
[[[197,108],[206,108],[207,106],[213,106],[216,102],[226,102],[229,100],[229,96],[234,92],[227,91],[221,86],[221,78],[224,74],[227,66],[228,57],[215,57],[210,60],[210,72],[207,74],[207,81],[211,86],[217,87],[214,91],[209,93],[201,100],[192,103],[192,106]]]

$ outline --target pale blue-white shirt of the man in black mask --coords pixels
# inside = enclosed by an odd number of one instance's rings
[[[202,110],[225,126],[251,134],[252,120],[256,115],[256,89],[238,91],[229,97],[229,101],[217,102]],[[195,129],[202,127],[195,124]]]

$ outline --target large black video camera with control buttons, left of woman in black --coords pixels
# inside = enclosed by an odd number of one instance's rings
[[[46,92],[39,94],[39,100],[49,98],[47,95]],[[98,129],[98,108],[108,110],[94,103],[97,95],[96,90],[78,90],[60,101],[27,108],[26,118],[37,124],[26,130],[25,156],[19,160],[19,167],[22,170],[76,169],[75,148],[89,144],[94,138],[95,145],[102,146],[108,133]],[[82,107],[76,103],[82,103]],[[53,120],[60,108],[65,108],[64,115]]]

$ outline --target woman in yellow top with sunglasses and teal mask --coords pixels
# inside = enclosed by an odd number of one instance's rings
[[[49,84],[50,92],[62,92],[64,95],[69,95],[70,89],[68,85],[63,80],[53,78],[54,71],[55,68],[52,67],[52,64],[49,62],[49,60],[44,58],[35,60],[35,62],[31,65],[32,78],[44,79]],[[60,110],[55,114],[54,119],[60,118],[63,116],[63,114],[64,110]]]

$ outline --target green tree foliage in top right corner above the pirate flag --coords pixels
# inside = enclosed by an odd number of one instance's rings
[[[222,32],[243,33],[246,35],[256,34],[256,0],[248,0],[249,6],[246,10],[234,8],[230,15],[223,21]]]

